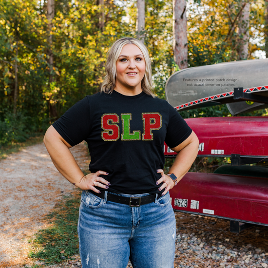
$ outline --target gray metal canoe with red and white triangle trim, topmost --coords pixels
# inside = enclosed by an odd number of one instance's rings
[[[233,89],[268,97],[268,58],[187,68],[166,83],[166,98],[179,111],[232,103]]]

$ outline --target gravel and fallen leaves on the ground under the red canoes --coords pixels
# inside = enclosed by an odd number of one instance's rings
[[[175,214],[177,236],[174,268],[268,267],[267,227],[252,226],[234,234],[230,232],[230,222],[227,220],[179,212]],[[255,233],[262,234],[262,239]]]

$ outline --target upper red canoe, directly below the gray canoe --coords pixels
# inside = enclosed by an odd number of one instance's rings
[[[202,117],[186,122],[199,138],[199,156],[268,156],[268,117]],[[176,154],[166,144],[164,153]]]

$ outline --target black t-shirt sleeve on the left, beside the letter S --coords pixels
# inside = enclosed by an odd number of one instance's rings
[[[66,111],[53,127],[71,146],[75,146],[89,135],[90,106],[88,97],[78,101]]]

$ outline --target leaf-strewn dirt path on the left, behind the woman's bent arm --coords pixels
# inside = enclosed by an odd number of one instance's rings
[[[79,144],[71,151],[81,169],[87,170],[86,146]],[[44,144],[0,160],[0,267],[32,264],[28,240],[47,226],[44,216],[74,189],[54,167]]]

